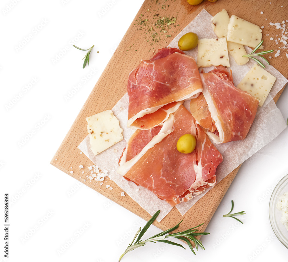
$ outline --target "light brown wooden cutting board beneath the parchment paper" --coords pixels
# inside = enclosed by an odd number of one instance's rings
[[[283,7],[281,7],[281,5]],[[265,50],[270,50],[275,48],[275,42],[270,41],[270,37],[276,35],[274,31],[276,27],[268,27],[269,22],[281,23],[285,17],[287,19],[288,2],[286,0],[274,0],[273,3],[270,4],[270,0],[260,0],[256,2],[254,0],[218,0],[215,3],[211,3],[204,0],[199,5],[191,6],[186,0],[145,0],[51,161],[51,164],[55,167],[127,208],[146,221],[150,219],[151,216],[128,195],[121,197],[120,193],[122,189],[113,183],[113,181],[107,178],[102,186],[94,180],[90,183],[90,179],[86,179],[86,182],[84,181],[83,178],[88,174],[87,167],[93,165],[93,163],[84,154],[80,154],[77,146],[87,136],[87,123],[85,118],[101,111],[112,109],[118,100],[126,93],[128,74],[137,66],[139,61],[141,59],[149,59],[158,48],[166,47],[203,8],[212,16],[225,8],[229,15],[235,14],[259,26],[264,25],[263,40]],[[263,14],[260,14],[261,11]],[[164,16],[169,18],[176,17],[177,20],[174,24],[175,27],[172,25],[171,29],[167,30],[167,33],[164,33],[164,35],[171,35],[171,37],[163,37],[160,35],[159,39],[159,35],[157,35],[159,30],[154,26],[154,23],[157,19],[163,18]],[[267,18],[267,20],[265,18]],[[147,21],[145,19],[147,19]],[[148,31],[151,27],[150,21],[153,21],[152,31]],[[153,31],[156,32],[154,35],[152,35]],[[269,36],[266,36],[266,34],[269,34]],[[283,50],[280,56],[276,58],[273,55],[269,61],[272,66],[287,78],[288,60],[285,56],[286,52]],[[268,59],[269,55],[270,54],[265,55],[265,57]],[[284,87],[274,98],[275,102],[278,100],[283,89]],[[111,97],[111,94],[114,94],[113,97]],[[71,166],[78,168],[79,165],[85,167],[82,169],[85,171],[84,174],[81,174],[82,179],[79,178],[81,176],[79,175],[80,172],[78,174],[77,172],[73,174],[70,173]],[[155,221],[154,225],[162,230],[166,230],[183,219],[178,230],[182,231],[204,223],[200,227],[200,231],[204,231],[239,168],[240,166],[206,193],[183,217],[174,207],[160,223]],[[111,185],[113,190],[105,190],[105,184]],[[193,221],[193,224],[191,224],[191,221]]]

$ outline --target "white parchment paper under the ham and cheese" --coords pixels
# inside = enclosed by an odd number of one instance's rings
[[[230,14],[232,15],[232,14]],[[235,14],[237,15],[237,14]],[[216,38],[212,26],[211,15],[202,10],[198,16],[179,33],[169,44],[170,47],[178,48],[178,40],[182,35],[188,32],[194,32],[200,38]],[[245,47],[247,53],[252,50]],[[249,51],[251,50],[251,51]],[[186,51],[187,55],[193,56],[197,60],[197,48]],[[249,60],[245,65],[238,66],[232,56],[229,54],[230,68],[233,73],[234,85],[237,86],[240,80],[248,73],[255,62]],[[205,68],[208,72],[211,68]],[[217,183],[219,183],[230,172],[237,168],[241,163],[247,160],[251,155],[256,153],[262,147],[270,143],[278,134],[280,134],[286,127],[286,122],[276,107],[273,97],[285,86],[287,79],[281,75],[274,67],[267,66],[266,70],[276,77],[274,86],[272,87],[269,96],[264,105],[257,110],[256,117],[250,128],[247,137],[241,141],[229,142],[225,144],[215,145],[219,152],[223,155],[223,162],[216,170]],[[184,106],[190,111],[189,102],[186,101]],[[89,136],[87,136],[78,148],[100,169],[108,170],[109,177],[121,187],[134,201],[143,207],[150,215],[153,215],[157,210],[161,210],[157,221],[160,222],[166,214],[172,209],[164,200],[160,200],[151,191],[135,185],[133,182],[126,181],[121,175],[116,172],[118,167],[118,160],[126,141],[129,140],[134,130],[127,128],[128,119],[128,94],[126,93],[120,101],[112,109],[114,115],[119,119],[120,126],[123,129],[124,140],[115,144],[113,147],[103,151],[94,156],[90,149]],[[139,191],[137,191],[139,189]],[[202,198],[209,190],[206,189],[200,195],[194,197],[188,202],[182,202],[176,206],[179,212],[183,215],[191,206],[193,206],[200,198]]]

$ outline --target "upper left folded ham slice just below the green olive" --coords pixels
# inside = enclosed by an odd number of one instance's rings
[[[127,126],[151,129],[177,110],[175,102],[190,100],[202,92],[193,57],[177,48],[162,48],[151,60],[141,61],[128,77]]]

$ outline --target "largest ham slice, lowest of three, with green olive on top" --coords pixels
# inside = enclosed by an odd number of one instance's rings
[[[177,151],[176,144],[180,136],[188,133],[195,136],[196,148],[183,154]],[[202,128],[180,105],[162,127],[134,133],[117,172],[175,206],[215,185],[215,171],[222,160]]]

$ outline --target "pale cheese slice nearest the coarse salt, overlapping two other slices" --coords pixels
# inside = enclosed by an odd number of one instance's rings
[[[228,24],[227,41],[255,48],[261,42],[261,32],[259,26],[232,15]]]

